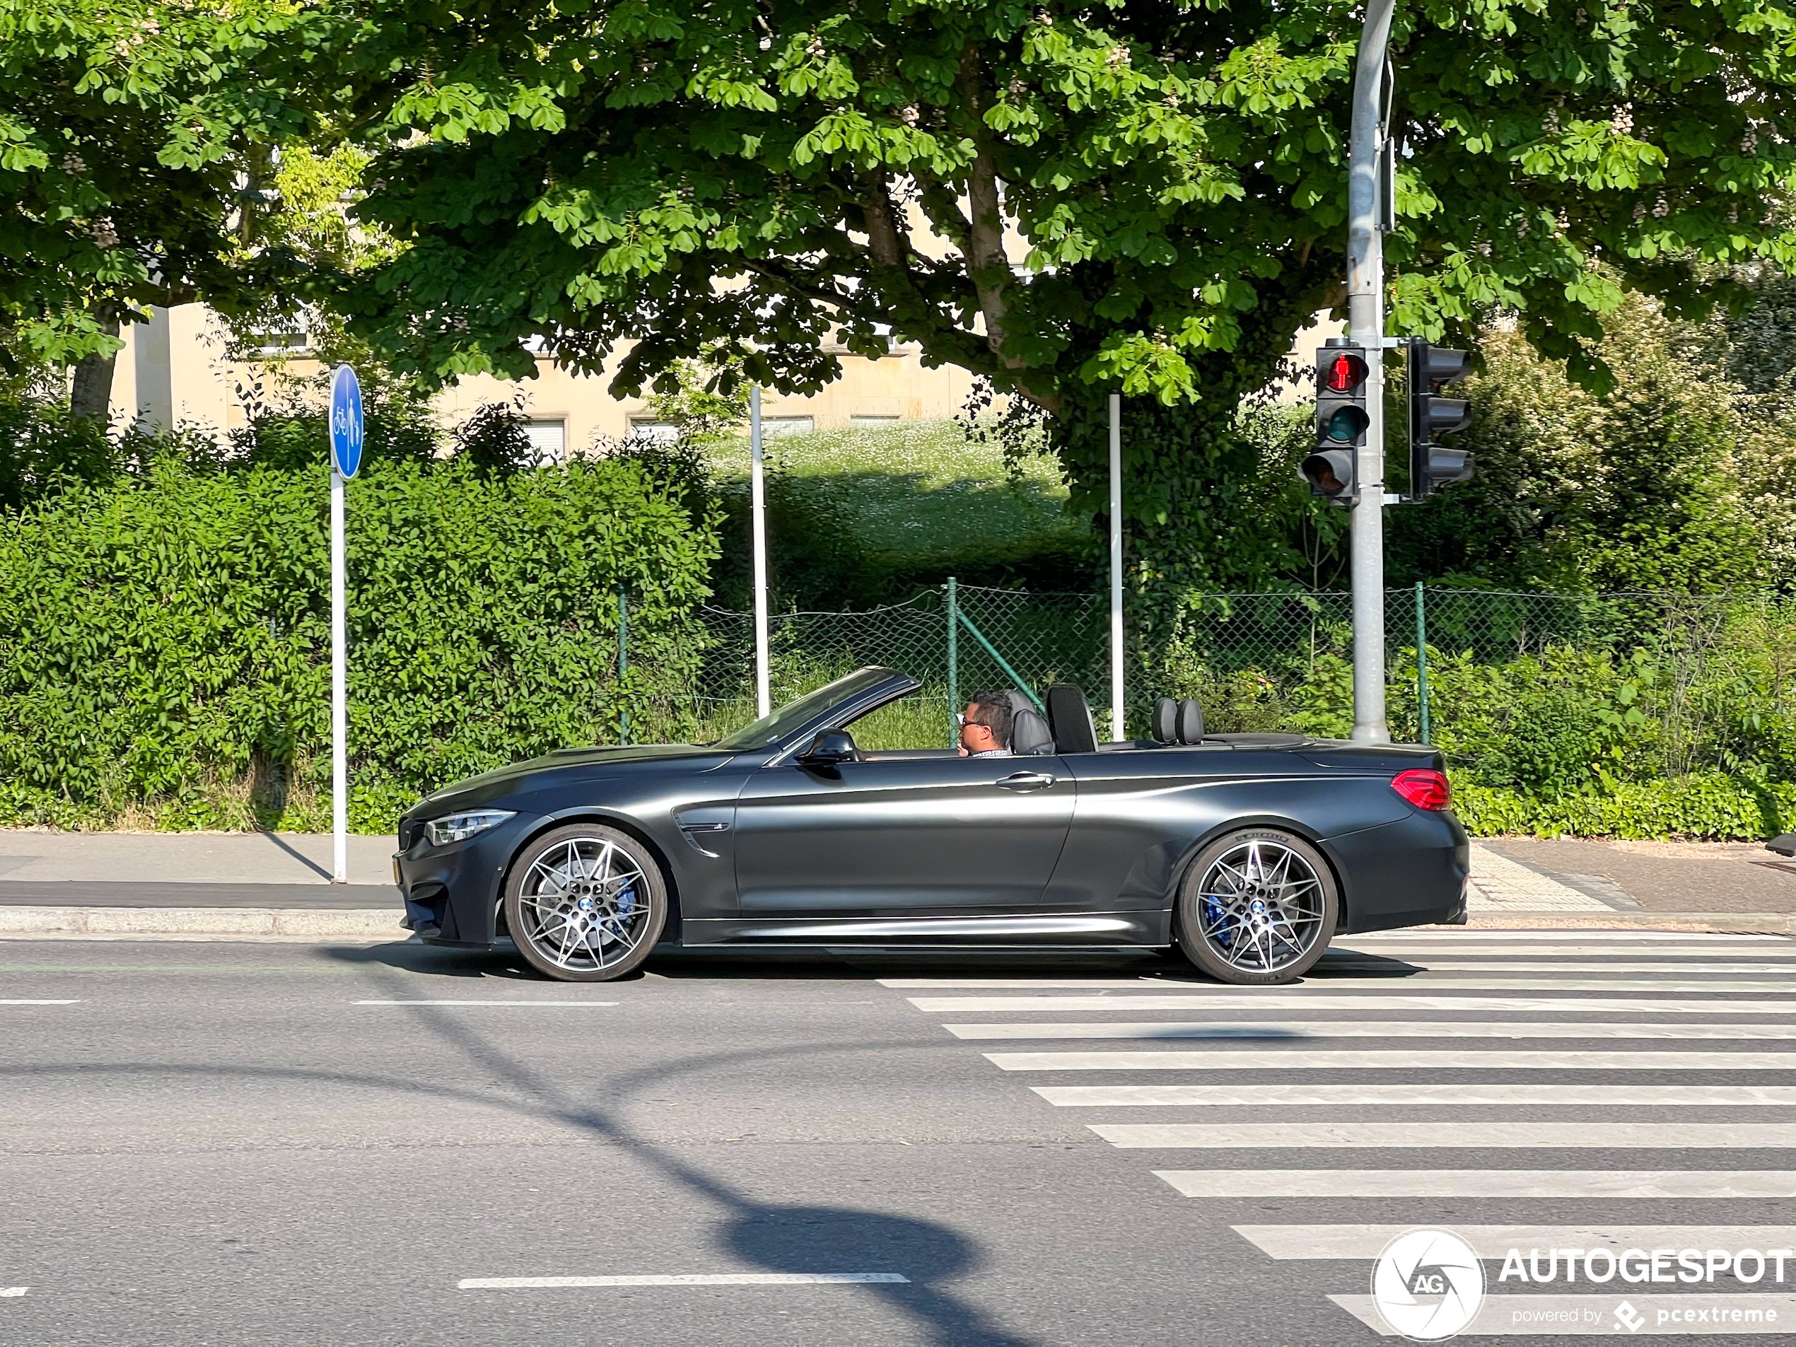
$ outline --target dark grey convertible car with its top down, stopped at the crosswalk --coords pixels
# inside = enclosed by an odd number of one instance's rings
[[[853,722],[918,686],[862,668],[717,744],[562,749],[458,781],[401,821],[397,882],[436,943],[508,934],[566,981],[677,941],[1176,946],[1270,984],[1336,932],[1466,920],[1433,749],[1205,736],[1194,702],[1162,702],[1153,740],[1097,744],[1085,697],[1056,686],[1045,717],[1017,717],[1018,756],[858,751]]]

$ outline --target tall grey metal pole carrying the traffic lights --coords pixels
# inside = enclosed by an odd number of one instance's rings
[[[1385,239],[1378,165],[1383,144],[1385,47],[1395,0],[1367,0],[1352,81],[1347,176],[1347,338],[1365,350],[1365,447],[1352,501],[1352,738],[1388,744],[1385,720]]]

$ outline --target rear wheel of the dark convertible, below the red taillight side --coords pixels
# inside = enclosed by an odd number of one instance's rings
[[[1237,828],[1198,851],[1178,887],[1178,948],[1211,977],[1279,986],[1307,973],[1334,936],[1340,889],[1307,841]]]

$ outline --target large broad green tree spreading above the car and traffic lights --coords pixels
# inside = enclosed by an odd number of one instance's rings
[[[1342,300],[1345,0],[343,4],[361,216],[406,244],[345,302],[395,359],[596,370],[629,339],[620,392],[688,357],[796,392],[826,332],[889,327],[1038,408],[1076,505],[1130,395],[1144,621],[1300,566],[1236,413]],[[1394,330],[1516,311],[1600,388],[1627,289],[1685,313],[1796,259],[1792,36],[1776,0],[1399,11]]]

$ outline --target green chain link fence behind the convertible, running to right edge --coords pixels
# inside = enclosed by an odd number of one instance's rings
[[[1202,596],[1166,645],[1128,652],[1128,729],[1144,733],[1169,695],[1198,699],[1218,733],[1345,736],[1351,605],[1340,591]],[[1110,731],[1101,594],[950,582],[866,612],[772,614],[769,634],[776,706],[864,665],[923,684],[857,727],[867,747],[950,744],[972,693],[1058,681],[1081,686]],[[753,616],[700,609],[691,639],[697,675],[661,684],[638,742],[715,738],[754,718]],[[1791,598],[1417,585],[1385,594],[1385,643],[1392,735],[1440,744],[1489,779],[1561,790],[1624,758],[1636,778],[1756,763],[1796,779]]]

